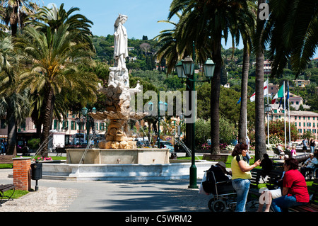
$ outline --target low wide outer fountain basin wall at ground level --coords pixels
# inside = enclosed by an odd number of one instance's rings
[[[217,162],[196,162],[197,177]],[[189,179],[191,163],[43,164],[42,179],[65,181],[167,181]]]

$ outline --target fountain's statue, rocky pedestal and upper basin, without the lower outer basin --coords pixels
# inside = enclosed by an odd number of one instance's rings
[[[131,95],[141,92],[139,82],[136,87],[129,87],[129,73],[126,68],[128,57],[127,33],[123,24],[127,16],[119,14],[114,23],[114,67],[110,67],[107,87],[99,84],[99,91],[107,97],[106,111],[89,113],[97,120],[110,120],[105,140],[98,143],[99,149],[68,149],[69,163],[78,163],[82,154],[83,163],[93,164],[156,164],[169,163],[169,149],[137,149],[136,141],[129,128],[129,119],[140,120],[148,113],[131,111]]]

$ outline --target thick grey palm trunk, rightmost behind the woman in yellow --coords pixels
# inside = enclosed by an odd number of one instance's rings
[[[264,3],[264,0],[258,1],[258,4]],[[257,25],[264,24],[259,18],[259,7],[257,11]],[[259,26],[263,29],[264,26]],[[261,42],[259,42],[261,43]],[[265,113],[264,113],[264,49],[259,45],[256,52],[256,76],[255,76],[255,161],[261,159],[266,153],[266,135],[265,135]]]

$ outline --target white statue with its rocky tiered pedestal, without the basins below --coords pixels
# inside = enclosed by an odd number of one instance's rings
[[[139,120],[146,113],[132,113],[130,108],[131,94],[141,91],[139,81],[134,89],[129,88],[129,74],[126,69],[125,58],[128,57],[127,33],[122,26],[128,17],[119,14],[114,23],[114,67],[110,67],[108,86],[102,87],[99,84],[99,91],[106,95],[106,111],[90,113],[95,119],[109,119],[105,140],[98,143],[102,149],[134,149],[136,142],[131,137],[128,120],[133,118]]]

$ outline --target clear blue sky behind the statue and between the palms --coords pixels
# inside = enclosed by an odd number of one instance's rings
[[[79,12],[86,16],[94,25],[91,30],[93,35],[107,36],[114,33],[114,21],[119,13],[128,16],[125,23],[129,38],[142,39],[146,35],[148,39],[155,38],[161,30],[173,28],[169,23],[158,23],[167,19],[172,0],[37,0],[40,6],[48,6],[54,3],[59,6],[64,3],[64,9],[78,7]],[[174,21],[174,18],[172,18]],[[231,47],[231,40],[223,47]],[[243,48],[242,41],[237,46]],[[314,58],[318,57],[318,51]]]

